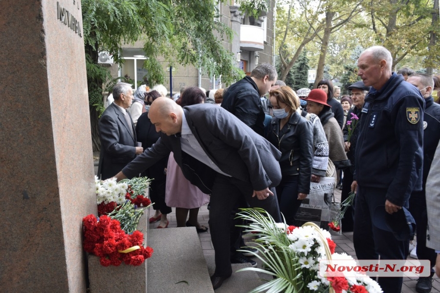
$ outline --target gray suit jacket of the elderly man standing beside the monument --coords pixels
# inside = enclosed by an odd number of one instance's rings
[[[128,111],[127,115],[129,115]],[[133,136],[129,127],[133,129]],[[118,174],[136,154],[136,132],[133,121],[128,125],[124,114],[114,103],[105,109],[99,119],[99,138],[101,153],[98,177],[104,180]]]

